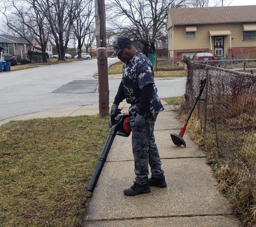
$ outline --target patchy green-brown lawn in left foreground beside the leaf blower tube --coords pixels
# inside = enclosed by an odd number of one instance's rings
[[[107,123],[96,115],[2,125],[1,226],[80,226]]]

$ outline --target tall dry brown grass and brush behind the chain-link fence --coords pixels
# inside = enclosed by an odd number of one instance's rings
[[[220,190],[231,202],[245,226],[256,223],[256,114],[253,108],[255,101],[252,92],[236,90],[233,94],[222,97],[217,103],[219,106],[215,103],[215,111],[221,112],[217,122],[219,147],[229,149],[229,152],[217,148],[215,126],[212,122],[214,118],[209,118],[208,114],[207,120],[211,119],[211,122],[207,122],[206,134],[201,131],[202,116],[196,115],[196,109],[186,128],[186,132],[206,153],[218,179]],[[207,109],[209,110],[210,108]],[[180,111],[182,122],[188,114]]]

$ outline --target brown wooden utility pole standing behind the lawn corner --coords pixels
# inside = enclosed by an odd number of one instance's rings
[[[106,117],[109,116],[109,89],[105,0],[95,0],[95,22],[99,80],[99,112],[101,117]]]

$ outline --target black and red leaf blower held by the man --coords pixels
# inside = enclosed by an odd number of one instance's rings
[[[108,126],[111,128],[108,133],[108,138],[103,147],[98,163],[94,169],[92,179],[89,182],[89,185],[87,188],[87,190],[91,192],[93,192],[96,186],[96,183],[99,179],[100,173],[102,171],[103,165],[105,164],[105,161],[108,156],[108,152],[112,146],[115,136],[118,135],[118,136],[128,137],[130,135],[130,132],[132,131],[130,128],[129,114],[121,113],[121,109],[118,109],[115,116],[110,117]]]

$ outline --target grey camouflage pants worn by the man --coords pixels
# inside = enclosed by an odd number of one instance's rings
[[[156,117],[157,115],[147,118],[145,120],[146,127],[140,129],[135,126],[134,120],[130,122],[135,161],[135,180],[139,185],[148,183],[149,166],[154,178],[161,178],[164,173],[161,169],[162,162],[155,144],[154,126]]]

